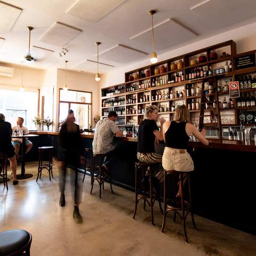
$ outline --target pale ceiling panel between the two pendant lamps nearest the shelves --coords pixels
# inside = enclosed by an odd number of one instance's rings
[[[101,52],[100,59],[114,61],[117,63],[127,63],[147,56],[147,52],[142,52],[122,44],[118,44],[113,48]]]

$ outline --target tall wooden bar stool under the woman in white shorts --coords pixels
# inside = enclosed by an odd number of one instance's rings
[[[191,201],[191,180],[190,180],[191,173],[192,172],[180,172],[180,171],[171,171],[171,170],[164,171],[164,217],[163,217],[163,225],[162,225],[161,232],[164,231],[167,212],[172,211],[174,212],[173,222],[175,222],[176,214],[178,214],[183,223],[183,236],[186,242],[188,242],[188,236],[187,236],[187,230],[186,230],[186,219],[189,211],[191,213],[191,219],[192,219],[194,229],[197,230],[196,223],[194,220],[192,201]],[[167,205],[167,196],[166,196],[167,175],[172,175],[173,198],[170,201],[170,205]],[[188,194],[189,194],[188,200],[185,200],[184,185],[183,185],[183,182],[186,180],[186,178],[188,178]],[[180,198],[175,196],[175,183],[177,180],[179,181],[178,183],[180,183],[181,185]]]

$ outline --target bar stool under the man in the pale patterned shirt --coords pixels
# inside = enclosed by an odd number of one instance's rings
[[[97,166],[95,166],[95,158],[99,158],[99,174],[94,175],[94,171],[97,169]],[[92,194],[92,189],[93,189],[93,183],[95,180],[98,181],[99,186],[100,186],[100,198],[101,198],[101,187],[104,190],[104,182],[109,180],[110,183],[110,189],[111,189],[111,193],[114,194],[113,188],[112,188],[112,180],[111,180],[111,173],[105,173],[102,171],[102,164],[103,164],[103,160],[106,157],[106,154],[93,154],[93,158],[92,158],[92,181],[91,181],[91,192],[90,194]]]

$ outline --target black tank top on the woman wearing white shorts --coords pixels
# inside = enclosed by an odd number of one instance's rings
[[[186,133],[187,122],[177,123],[172,121],[165,132],[165,146],[169,148],[187,149],[189,137]]]

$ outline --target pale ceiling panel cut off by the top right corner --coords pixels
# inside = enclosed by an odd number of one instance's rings
[[[206,0],[201,4],[191,6],[196,13],[212,28],[223,28],[256,15],[255,0]]]

